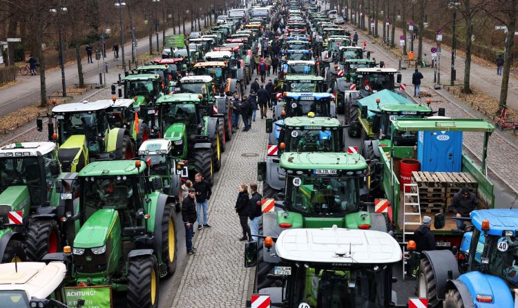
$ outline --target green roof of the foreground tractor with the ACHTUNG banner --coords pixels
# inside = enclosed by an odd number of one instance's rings
[[[135,166],[136,160],[99,160],[90,162],[77,174],[80,177],[137,175],[146,169],[146,163],[140,162],[140,168]]]

